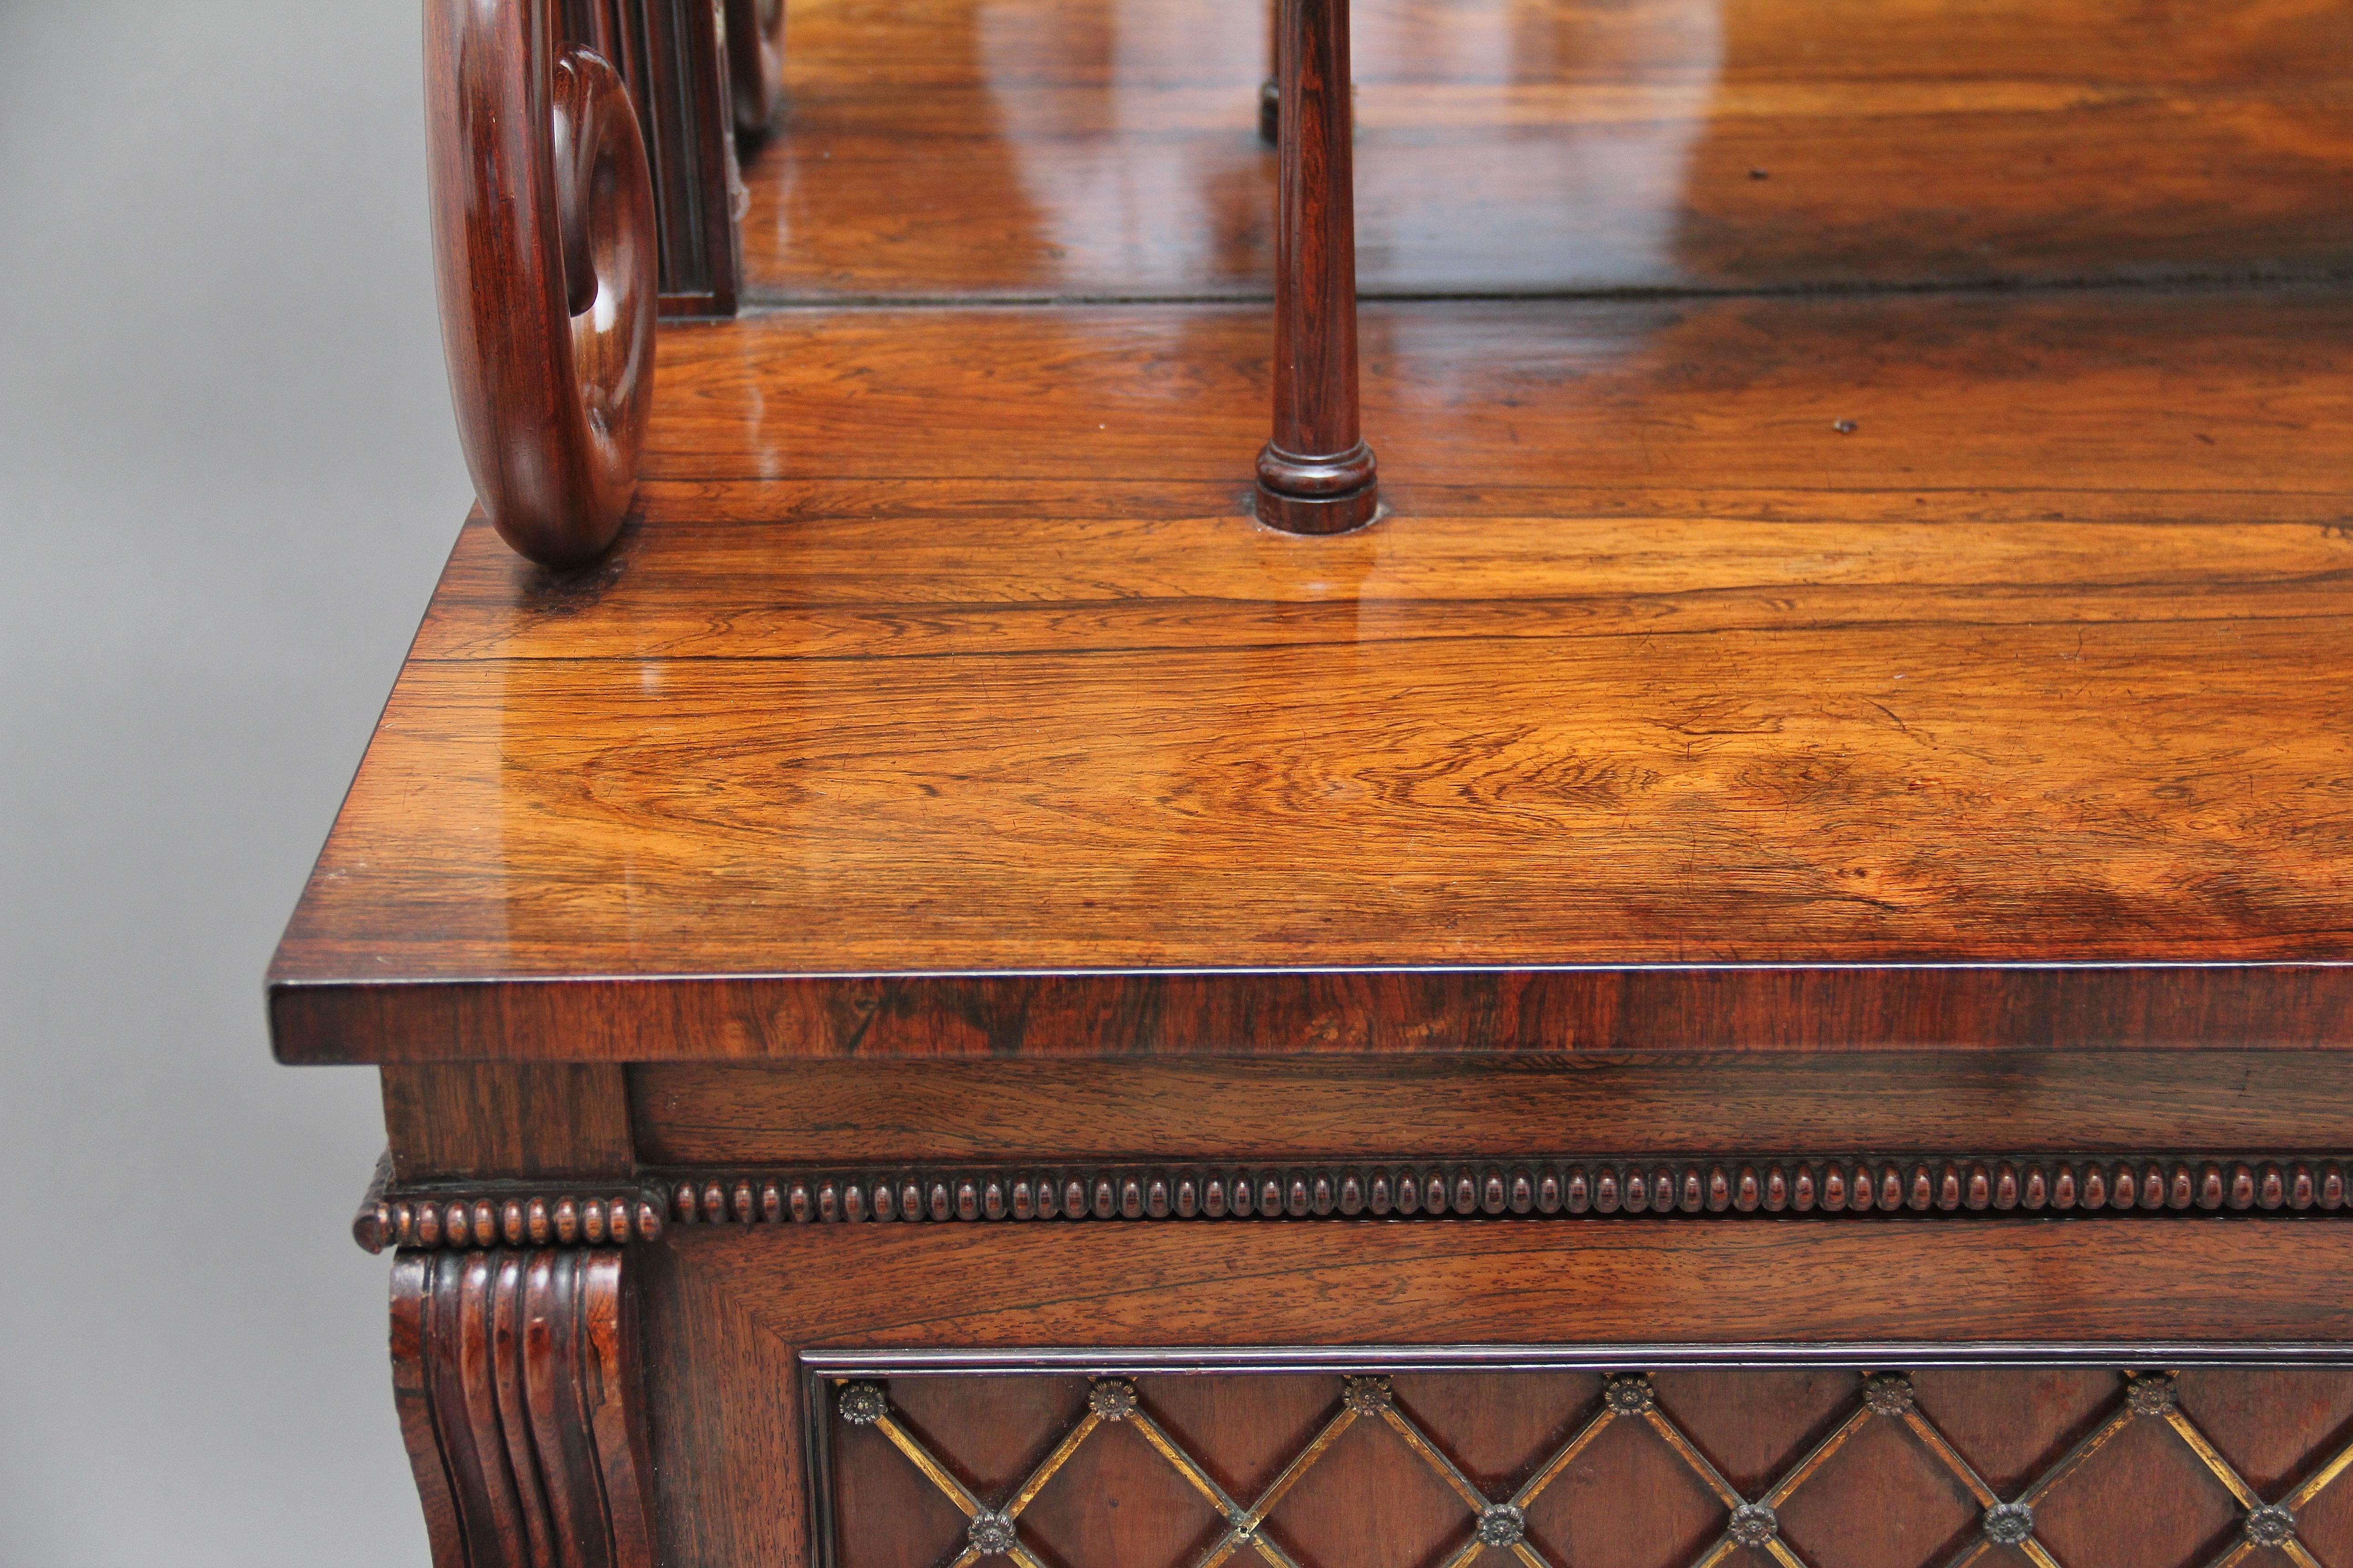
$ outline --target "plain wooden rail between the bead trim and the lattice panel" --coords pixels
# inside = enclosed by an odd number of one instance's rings
[[[2304,1342],[2353,1225],[774,1225],[673,1229],[800,1349]]]

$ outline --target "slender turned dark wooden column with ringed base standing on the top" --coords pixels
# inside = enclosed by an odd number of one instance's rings
[[[1355,395],[1348,0],[1280,0],[1275,45],[1275,437],[1259,454],[1259,520],[1344,534],[1381,503]]]

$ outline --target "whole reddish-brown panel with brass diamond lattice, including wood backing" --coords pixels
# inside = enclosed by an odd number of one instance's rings
[[[831,1389],[840,1568],[2353,1568],[2353,1368]]]

